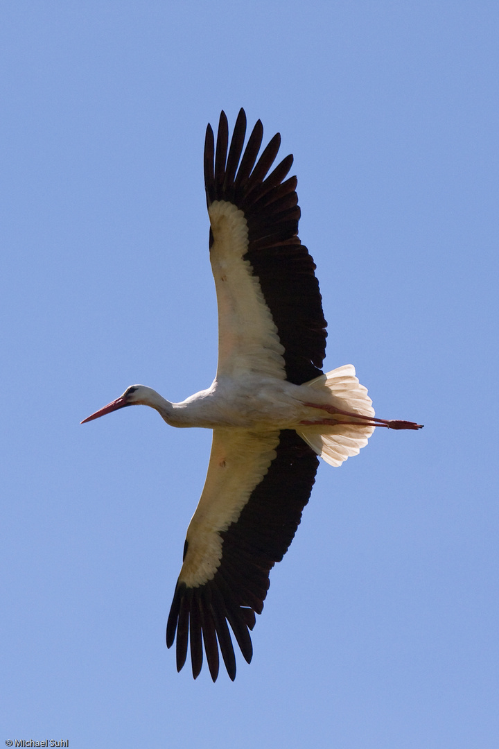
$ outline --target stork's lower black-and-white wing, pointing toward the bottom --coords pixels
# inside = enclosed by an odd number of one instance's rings
[[[246,661],[249,630],[263,610],[269,571],[284,557],[307,504],[319,460],[293,430],[215,429],[206,483],[189,524],[166,631],[177,634],[177,670],[203,664],[213,681],[218,647],[230,679],[236,658],[227,622]]]

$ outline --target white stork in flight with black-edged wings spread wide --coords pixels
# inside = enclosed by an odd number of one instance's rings
[[[296,177],[287,156],[273,172],[281,136],[257,161],[260,120],[243,153],[239,112],[228,149],[221,112],[216,149],[204,145],[210,261],[218,300],[218,367],[212,385],[181,403],[132,385],[85,422],[124,406],[155,408],[177,427],[213,430],[203,493],[187,530],[166,642],[177,634],[177,670],[203,664],[213,681],[218,647],[230,679],[236,658],[227,622],[251,661],[249,630],[263,610],[269,572],[293,540],[319,464],[356,455],[376,426],[419,429],[376,419],[351,365],[323,374],[325,327],[315,265],[298,238]],[[241,157],[242,156],[242,157]],[[268,176],[267,176],[268,175]],[[83,422],[82,422],[83,423]]]

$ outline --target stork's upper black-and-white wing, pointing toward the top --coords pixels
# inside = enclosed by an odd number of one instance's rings
[[[254,372],[301,384],[322,374],[326,322],[315,265],[298,237],[296,177],[285,180],[293,156],[267,176],[281,136],[272,138],[257,161],[260,120],[242,154],[245,132],[241,109],[227,155],[227,118],[221,112],[216,150],[209,125],[204,146],[218,300],[217,376]]]

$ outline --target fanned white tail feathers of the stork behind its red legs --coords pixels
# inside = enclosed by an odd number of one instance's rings
[[[374,416],[373,401],[367,395],[367,387],[355,377],[355,367],[346,364],[333,369],[315,380],[304,383],[316,389],[328,390],[331,401],[341,410]],[[346,458],[357,455],[361,447],[373,434],[373,426],[362,424],[337,424],[334,426],[305,426],[296,430],[300,437],[331,466],[340,466]]]

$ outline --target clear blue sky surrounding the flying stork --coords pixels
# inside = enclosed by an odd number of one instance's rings
[[[499,745],[495,1],[0,8],[0,742]],[[177,674],[165,624],[210,434],[133,408],[212,381],[206,123],[295,154],[300,235],[379,416],[319,467],[251,666]]]

